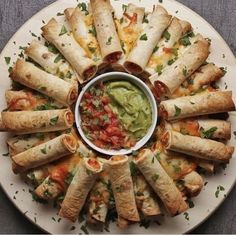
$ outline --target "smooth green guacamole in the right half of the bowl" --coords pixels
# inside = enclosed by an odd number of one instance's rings
[[[136,140],[143,138],[152,124],[152,110],[148,98],[128,81],[106,83],[106,95],[112,111],[118,115],[123,128]]]

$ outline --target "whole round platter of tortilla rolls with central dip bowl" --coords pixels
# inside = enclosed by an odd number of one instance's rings
[[[186,233],[232,189],[236,61],[178,2],[59,0],[0,66],[1,186],[43,230]]]

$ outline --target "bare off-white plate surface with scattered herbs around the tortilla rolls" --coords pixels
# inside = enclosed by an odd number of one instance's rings
[[[112,2],[116,11],[121,13],[121,5],[127,4],[127,0],[114,0]],[[131,2],[131,1],[130,1]],[[158,1],[155,1],[158,3]],[[132,3],[152,9],[153,0],[132,0]],[[34,37],[30,32],[40,35],[40,27],[43,25],[42,20],[47,22],[51,17],[55,16],[57,12],[63,12],[67,7],[74,7],[78,2],[76,0],[59,0],[52,5],[46,7],[38,14],[33,16],[20,30],[12,37],[9,43],[4,48],[0,55],[1,68],[1,87],[0,87],[0,107],[1,110],[6,108],[4,93],[10,87],[10,79],[8,78],[8,67],[6,66],[4,57],[11,57],[11,63],[15,61],[19,51],[19,46],[26,46]],[[214,62],[218,66],[227,67],[228,73],[221,80],[220,85],[222,89],[234,90],[236,94],[236,84],[232,81],[236,74],[236,60],[233,53],[221,38],[221,36],[199,15],[192,10],[183,6],[174,0],[163,0],[163,6],[173,15],[191,22],[194,29],[202,33],[205,37],[212,39],[211,55],[208,61]],[[10,17],[10,16],[9,16]],[[64,20],[63,16],[57,17]],[[16,42],[16,43],[14,43]],[[15,53],[15,55],[14,55]],[[226,86],[227,84],[227,86]],[[236,130],[236,115],[231,113],[230,120],[232,122],[232,131]],[[7,152],[5,140],[7,134],[0,135],[0,153]],[[236,144],[234,135],[230,141],[231,145]],[[111,233],[135,233],[135,234],[181,234],[186,233],[204,220],[206,220],[214,210],[222,203],[234,186],[236,179],[236,156],[230,161],[230,165],[225,170],[217,173],[214,176],[205,178],[208,182],[201,194],[193,199],[194,208],[188,210],[187,220],[186,215],[181,214],[174,218],[161,217],[161,225],[153,224],[148,229],[139,227],[139,225],[132,225],[125,231],[116,227],[115,224],[110,226]],[[58,222],[59,217],[57,211],[53,207],[41,205],[32,201],[31,194],[29,194],[29,187],[11,171],[11,164],[8,157],[2,156],[0,158],[0,181],[3,189],[8,197],[12,200],[15,206],[28,217],[32,222],[35,222],[43,230],[52,234],[70,234],[70,233],[84,233],[79,223],[69,223],[65,220]],[[215,197],[217,186],[223,186],[224,191],[221,191],[219,197]],[[74,227],[72,227],[74,226]],[[73,229],[73,230],[72,230]],[[100,233],[99,231],[89,229],[89,233]],[[109,233],[109,232],[104,232]]]

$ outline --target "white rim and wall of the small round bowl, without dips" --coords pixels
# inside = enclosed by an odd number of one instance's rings
[[[143,91],[143,93],[147,96],[151,109],[152,109],[152,124],[147,131],[147,134],[140,139],[136,145],[132,148],[129,149],[120,149],[120,150],[113,150],[113,149],[102,149],[94,145],[89,139],[86,138],[82,128],[81,128],[81,116],[80,116],[80,109],[79,105],[80,102],[83,98],[84,93],[94,84],[97,84],[98,82],[106,82],[106,81],[115,81],[115,80],[126,80],[131,82],[132,84],[136,85],[140,90]],[[126,155],[130,154],[134,151],[137,151],[140,149],[142,146],[146,144],[146,142],[151,138],[155,128],[156,128],[156,123],[157,123],[157,118],[158,118],[158,110],[157,110],[157,104],[156,100],[151,92],[151,90],[148,88],[148,86],[141,81],[139,78],[123,73],[123,72],[110,72],[110,73],[105,73],[102,75],[99,75],[95,77],[93,80],[91,80],[85,87],[83,87],[82,91],[80,92],[80,95],[77,99],[76,106],[75,106],[75,122],[76,122],[76,127],[83,138],[83,140],[94,150],[103,153],[105,155]]]

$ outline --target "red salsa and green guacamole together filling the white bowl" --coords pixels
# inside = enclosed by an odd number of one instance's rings
[[[80,114],[85,136],[103,149],[135,146],[152,122],[148,98],[128,81],[91,86],[81,100]]]

